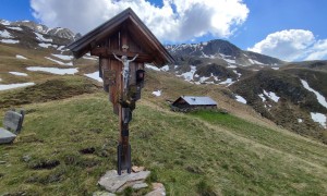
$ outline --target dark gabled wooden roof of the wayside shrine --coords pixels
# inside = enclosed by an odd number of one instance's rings
[[[81,58],[90,51],[95,45],[119,30],[123,24],[126,24],[131,36],[134,36],[134,41],[138,41],[140,45],[147,48],[148,54],[156,56],[154,62],[156,65],[174,62],[174,59],[131,8],[70,44],[68,48],[71,49],[75,58]]]

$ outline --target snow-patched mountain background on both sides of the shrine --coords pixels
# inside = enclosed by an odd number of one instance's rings
[[[61,36],[63,34],[71,36]],[[7,88],[12,83],[32,85],[41,82],[45,75],[51,77],[53,74],[87,74],[100,79],[96,73],[96,58],[85,56],[75,60],[65,49],[65,45],[76,36],[78,37],[69,29],[50,29],[28,21],[1,21],[2,86]],[[219,39],[194,45],[167,46],[167,49],[175,57],[178,64],[155,70],[171,73],[191,84],[209,85],[210,90],[217,88],[214,85],[219,86],[219,89],[222,87],[222,90],[228,91],[230,99],[241,100],[259,115],[293,132],[326,143],[325,61],[288,63],[243,51]],[[27,50],[33,50],[33,53]],[[153,69],[152,65],[147,68]],[[278,99],[271,99],[269,94]]]

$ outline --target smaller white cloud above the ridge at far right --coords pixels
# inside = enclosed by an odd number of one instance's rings
[[[247,50],[286,61],[327,59],[327,39],[317,40],[304,29],[288,29],[269,34]]]

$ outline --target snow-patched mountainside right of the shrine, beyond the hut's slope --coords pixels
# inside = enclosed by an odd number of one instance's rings
[[[195,85],[219,85],[231,98],[298,134],[327,143],[326,61],[283,62],[226,40],[168,46],[170,72]]]

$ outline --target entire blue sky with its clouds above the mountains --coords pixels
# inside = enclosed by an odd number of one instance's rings
[[[82,34],[131,7],[164,44],[222,38],[288,61],[327,59],[326,0],[0,0],[0,19],[32,20]],[[78,15],[81,10],[85,17]]]

